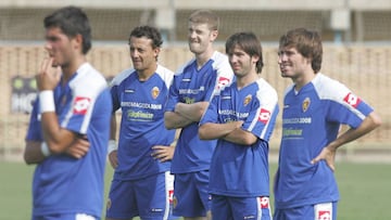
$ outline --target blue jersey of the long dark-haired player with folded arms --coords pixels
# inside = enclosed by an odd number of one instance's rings
[[[252,145],[218,139],[210,169],[210,192],[235,197],[269,195],[268,141],[278,115],[276,90],[264,79],[238,90],[236,82],[214,96],[200,125],[242,120],[258,140]]]

